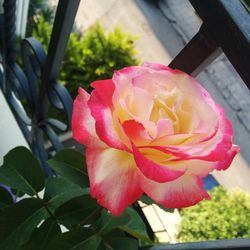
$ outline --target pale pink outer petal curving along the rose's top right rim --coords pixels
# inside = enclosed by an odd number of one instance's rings
[[[177,89],[178,96],[182,95],[185,100],[188,100],[187,103],[189,103],[189,106],[191,105],[192,110],[198,113],[198,118],[205,116],[205,123],[208,123],[208,129],[213,129],[217,123],[216,114],[213,111],[215,103],[208,92],[195,79],[182,71],[173,70],[165,65],[146,63],[143,66],[147,67],[148,71],[145,70],[143,75],[134,77],[133,83],[135,86],[147,89],[150,93],[158,95],[161,93],[164,95],[164,92],[169,94],[174,89]],[[192,118],[190,122],[193,122],[193,120]],[[183,125],[188,126],[186,123]],[[188,132],[194,133],[196,131]]]

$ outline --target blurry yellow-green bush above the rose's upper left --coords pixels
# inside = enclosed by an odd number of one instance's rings
[[[73,62],[77,61],[77,68],[82,70],[83,76],[76,80],[88,88],[89,83],[95,80],[111,78],[114,70],[138,64],[134,57],[134,40],[135,37],[122,32],[119,27],[105,34],[102,26],[97,23],[84,34],[82,42],[80,41],[80,55],[67,57],[70,64],[67,64],[66,59],[65,69],[69,69],[70,75],[74,75]],[[70,65],[73,66],[71,69],[67,67]]]

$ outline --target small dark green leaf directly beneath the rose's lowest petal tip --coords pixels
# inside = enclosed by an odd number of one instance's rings
[[[105,235],[113,229],[126,225],[130,220],[128,213],[123,213],[120,216],[114,216],[106,210],[102,210],[101,218],[99,221],[99,233]]]

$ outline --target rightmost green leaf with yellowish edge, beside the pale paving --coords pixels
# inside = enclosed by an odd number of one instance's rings
[[[142,241],[152,243],[148,238],[145,224],[138,213],[133,208],[128,207],[124,214],[128,214],[130,216],[130,221],[126,225],[122,225],[119,228]]]

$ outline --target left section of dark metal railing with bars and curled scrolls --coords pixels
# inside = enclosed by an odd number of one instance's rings
[[[71,127],[72,98],[67,89],[56,81],[67,40],[72,28],[79,0],[70,3],[60,0],[54,26],[61,23],[62,15],[71,19],[61,30],[53,29],[47,56],[42,45],[34,38],[22,41],[21,54],[23,70],[15,62],[15,0],[4,1],[3,34],[3,84],[2,91],[16,117],[16,120],[32,151],[40,159],[45,173],[51,174],[46,160],[53,151],[63,147],[57,133],[66,132]],[[53,38],[65,39],[56,48]],[[61,46],[60,48],[60,45]],[[60,51],[62,50],[62,51]],[[48,69],[53,65],[53,73]],[[51,74],[51,75],[50,75]],[[64,114],[64,121],[50,117],[51,111]]]

